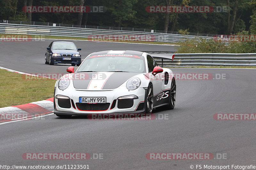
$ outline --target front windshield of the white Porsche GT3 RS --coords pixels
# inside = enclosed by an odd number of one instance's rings
[[[140,55],[94,55],[85,58],[77,72],[89,71],[118,71],[118,72],[146,72],[145,60]]]

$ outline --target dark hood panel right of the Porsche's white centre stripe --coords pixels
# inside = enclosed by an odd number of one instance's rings
[[[141,74],[141,73],[115,72],[108,78],[107,82],[105,83],[105,85],[103,86],[102,89],[103,90],[104,89],[115,89],[115,88],[119,87],[120,85],[122,85],[126,80],[128,80],[129,78],[131,78],[137,74]]]

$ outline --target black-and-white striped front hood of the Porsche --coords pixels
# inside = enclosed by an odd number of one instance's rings
[[[76,89],[107,90],[116,89],[138,72],[86,72],[73,73],[72,79]]]

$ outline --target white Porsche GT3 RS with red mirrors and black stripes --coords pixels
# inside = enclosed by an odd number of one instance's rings
[[[94,52],[76,72],[72,66],[67,71],[54,88],[54,114],[59,117],[152,113],[156,107],[175,106],[172,70],[159,67],[146,52]]]

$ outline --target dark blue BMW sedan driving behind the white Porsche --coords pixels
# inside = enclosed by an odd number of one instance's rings
[[[52,41],[47,47],[44,63],[58,64],[69,63],[72,66],[79,66],[81,64],[81,48],[76,48],[73,42],[69,41]]]

